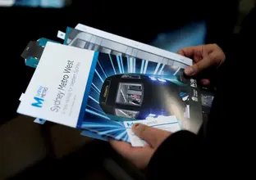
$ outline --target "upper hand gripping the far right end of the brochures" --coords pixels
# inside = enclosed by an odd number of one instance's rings
[[[186,57],[190,57],[194,61],[194,65],[185,69],[185,74],[193,76],[199,74],[202,70],[205,70],[213,65],[219,66],[225,61],[226,56],[221,47],[217,44],[207,44],[195,47],[185,47],[178,51],[178,54]],[[203,85],[210,83],[209,79],[202,79]]]

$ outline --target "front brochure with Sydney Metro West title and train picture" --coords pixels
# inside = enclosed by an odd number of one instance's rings
[[[182,74],[161,62],[47,43],[17,111],[126,142],[138,120],[197,132],[213,96],[201,96]]]

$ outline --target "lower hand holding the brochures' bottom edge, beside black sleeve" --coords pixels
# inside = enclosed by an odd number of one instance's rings
[[[143,138],[148,145],[143,147],[133,147],[127,142],[110,140],[112,147],[132,164],[135,164],[139,169],[144,169],[148,166],[149,160],[153,156],[153,152],[158,149],[158,146],[171,135],[170,132],[151,128],[144,124],[134,124],[132,131],[140,138]]]

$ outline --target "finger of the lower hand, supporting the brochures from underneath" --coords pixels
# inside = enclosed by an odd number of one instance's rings
[[[116,150],[119,154],[123,155],[124,157],[127,157],[127,155],[130,154],[132,146],[129,143],[121,142],[113,139],[110,139],[109,142],[112,148]]]

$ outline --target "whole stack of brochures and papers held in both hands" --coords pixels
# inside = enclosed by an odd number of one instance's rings
[[[36,70],[18,113],[132,146],[145,143],[132,124],[196,133],[206,119],[213,92],[184,78],[189,58],[80,24],[57,37],[64,45],[40,38],[25,47]]]

